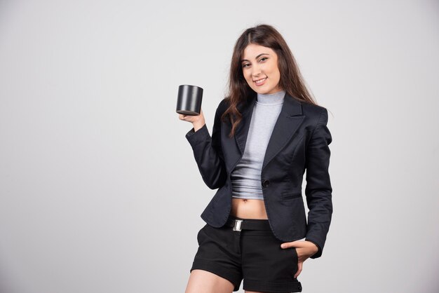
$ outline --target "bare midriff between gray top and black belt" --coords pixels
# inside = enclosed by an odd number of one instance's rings
[[[264,200],[232,198],[231,215],[242,219],[268,219]]]

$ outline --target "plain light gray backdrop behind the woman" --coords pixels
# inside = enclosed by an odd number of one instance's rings
[[[438,292],[438,1],[0,1],[0,292],[184,292],[234,42],[269,23],[330,111],[335,212],[304,292]],[[243,292],[243,291],[242,291]]]

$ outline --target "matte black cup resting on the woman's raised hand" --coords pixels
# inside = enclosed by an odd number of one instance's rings
[[[197,116],[201,112],[203,88],[199,86],[182,85],[178,87],[177,113]]]

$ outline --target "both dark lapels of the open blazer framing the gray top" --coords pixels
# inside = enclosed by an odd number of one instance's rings
[[[253,108],[256,104],[256,95],[248,100],[248,102],[238,107],[241,111],[243,119],[239,123],[235,132],[235,140],[238,149],[241,151],[241,156],[244,154],[245,142],[248,137],[248,130],[250,128],[250,121],[252,119]],[[243,109],[242,109],[243,108]],[[264,162],[262,169],[271,159],[278,154],[279,151],[288,143],[292,135],[299,129],[302,124],[304,116],[302,115],[302,105],[288,94],[285,94],[282,104],[281,113],[278,116],[273,132],[269,139],[269,144],[266,147]]]

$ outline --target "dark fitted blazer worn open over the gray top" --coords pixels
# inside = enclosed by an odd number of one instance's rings
[[[194,151],[198,170],[210,189],[218,189],[201,214],[210,226],[223,226],[231,211],[230,174],[243,156],[256,95],[238,105],[243,115],[234,137],[231,123],[222,122],[227,99],[219,102],[210,137],[206,125],[186,138]],[[320,257],[332,217],[332,187],[328,173],[332,141],[327,129],[327,110],[300,102],[286,94],[266,148],[261,186],[269,224],[274,236],[290,242],[306,238],[318,246],[311,258]],[[306,170],[308,223],[302,198]]]

